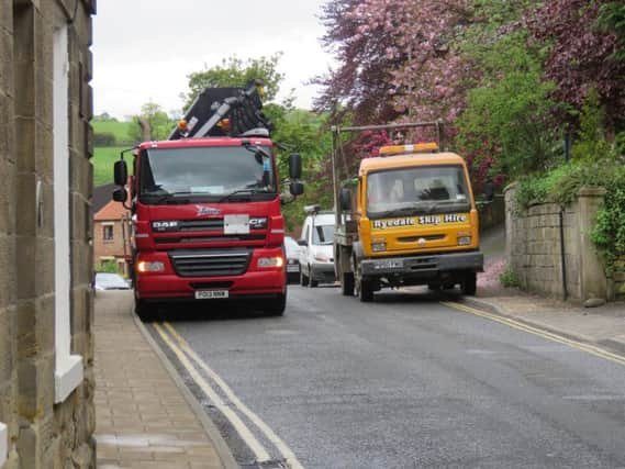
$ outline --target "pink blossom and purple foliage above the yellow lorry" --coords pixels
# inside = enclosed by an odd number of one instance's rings
[[[400,115],[454,121],[481,71],[468,53],[536,0],[338,0],[324,8],[324,44],[339,66],[316,82],[317,105],[357,124]]]

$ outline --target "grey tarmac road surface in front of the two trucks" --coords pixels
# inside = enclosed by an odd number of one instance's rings
[[[439,300],[294,286],[283,317],[204,303],[150,331],[242,466],[625,467],[625,360]]]

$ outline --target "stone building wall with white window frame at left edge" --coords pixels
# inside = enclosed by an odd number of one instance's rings
[[[94,467],[91,16],[0,0],[0,468]]]

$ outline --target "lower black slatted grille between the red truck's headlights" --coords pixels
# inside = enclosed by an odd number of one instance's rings
[[[175,250],[171,265],[180,277],[238,276],[247,270],[250,249]]]

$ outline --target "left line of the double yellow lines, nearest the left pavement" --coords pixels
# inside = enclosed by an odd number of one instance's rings
[[[187,356],[169,338],[169,336],[163,330],[160,324],[154,323],[153,325],[156,332],[158,332],[158,334],[163,338],[163,340],[165,340],[165,344],[167,344],[167,346],[171,349],[171,351],[176,355],[176,357],[178,357],[180,364],[185,367],[185,369],[187,369],[193,381],[196,381],[196,383],[200,387],[200,389],[204,392],[204,394],[207,394],[207,397],[212,401],[213,405],[224,414],[224,416],[230,421],[232,426],[236,429],[241,438],[247,444],[247,446],[249,446],[249,449],[252,449],[252,453],[254,453],[254,456],[256,457],[258,462],[271,460],[269,453],[265,449],[265,447],[260,444],[260,442],[256,439],[256,437],[247,427],[247,425],[243,423],[241,417],[211,388],[211,386],[207,382],[207,380],[196,369],[193,364],[189,361]]]

